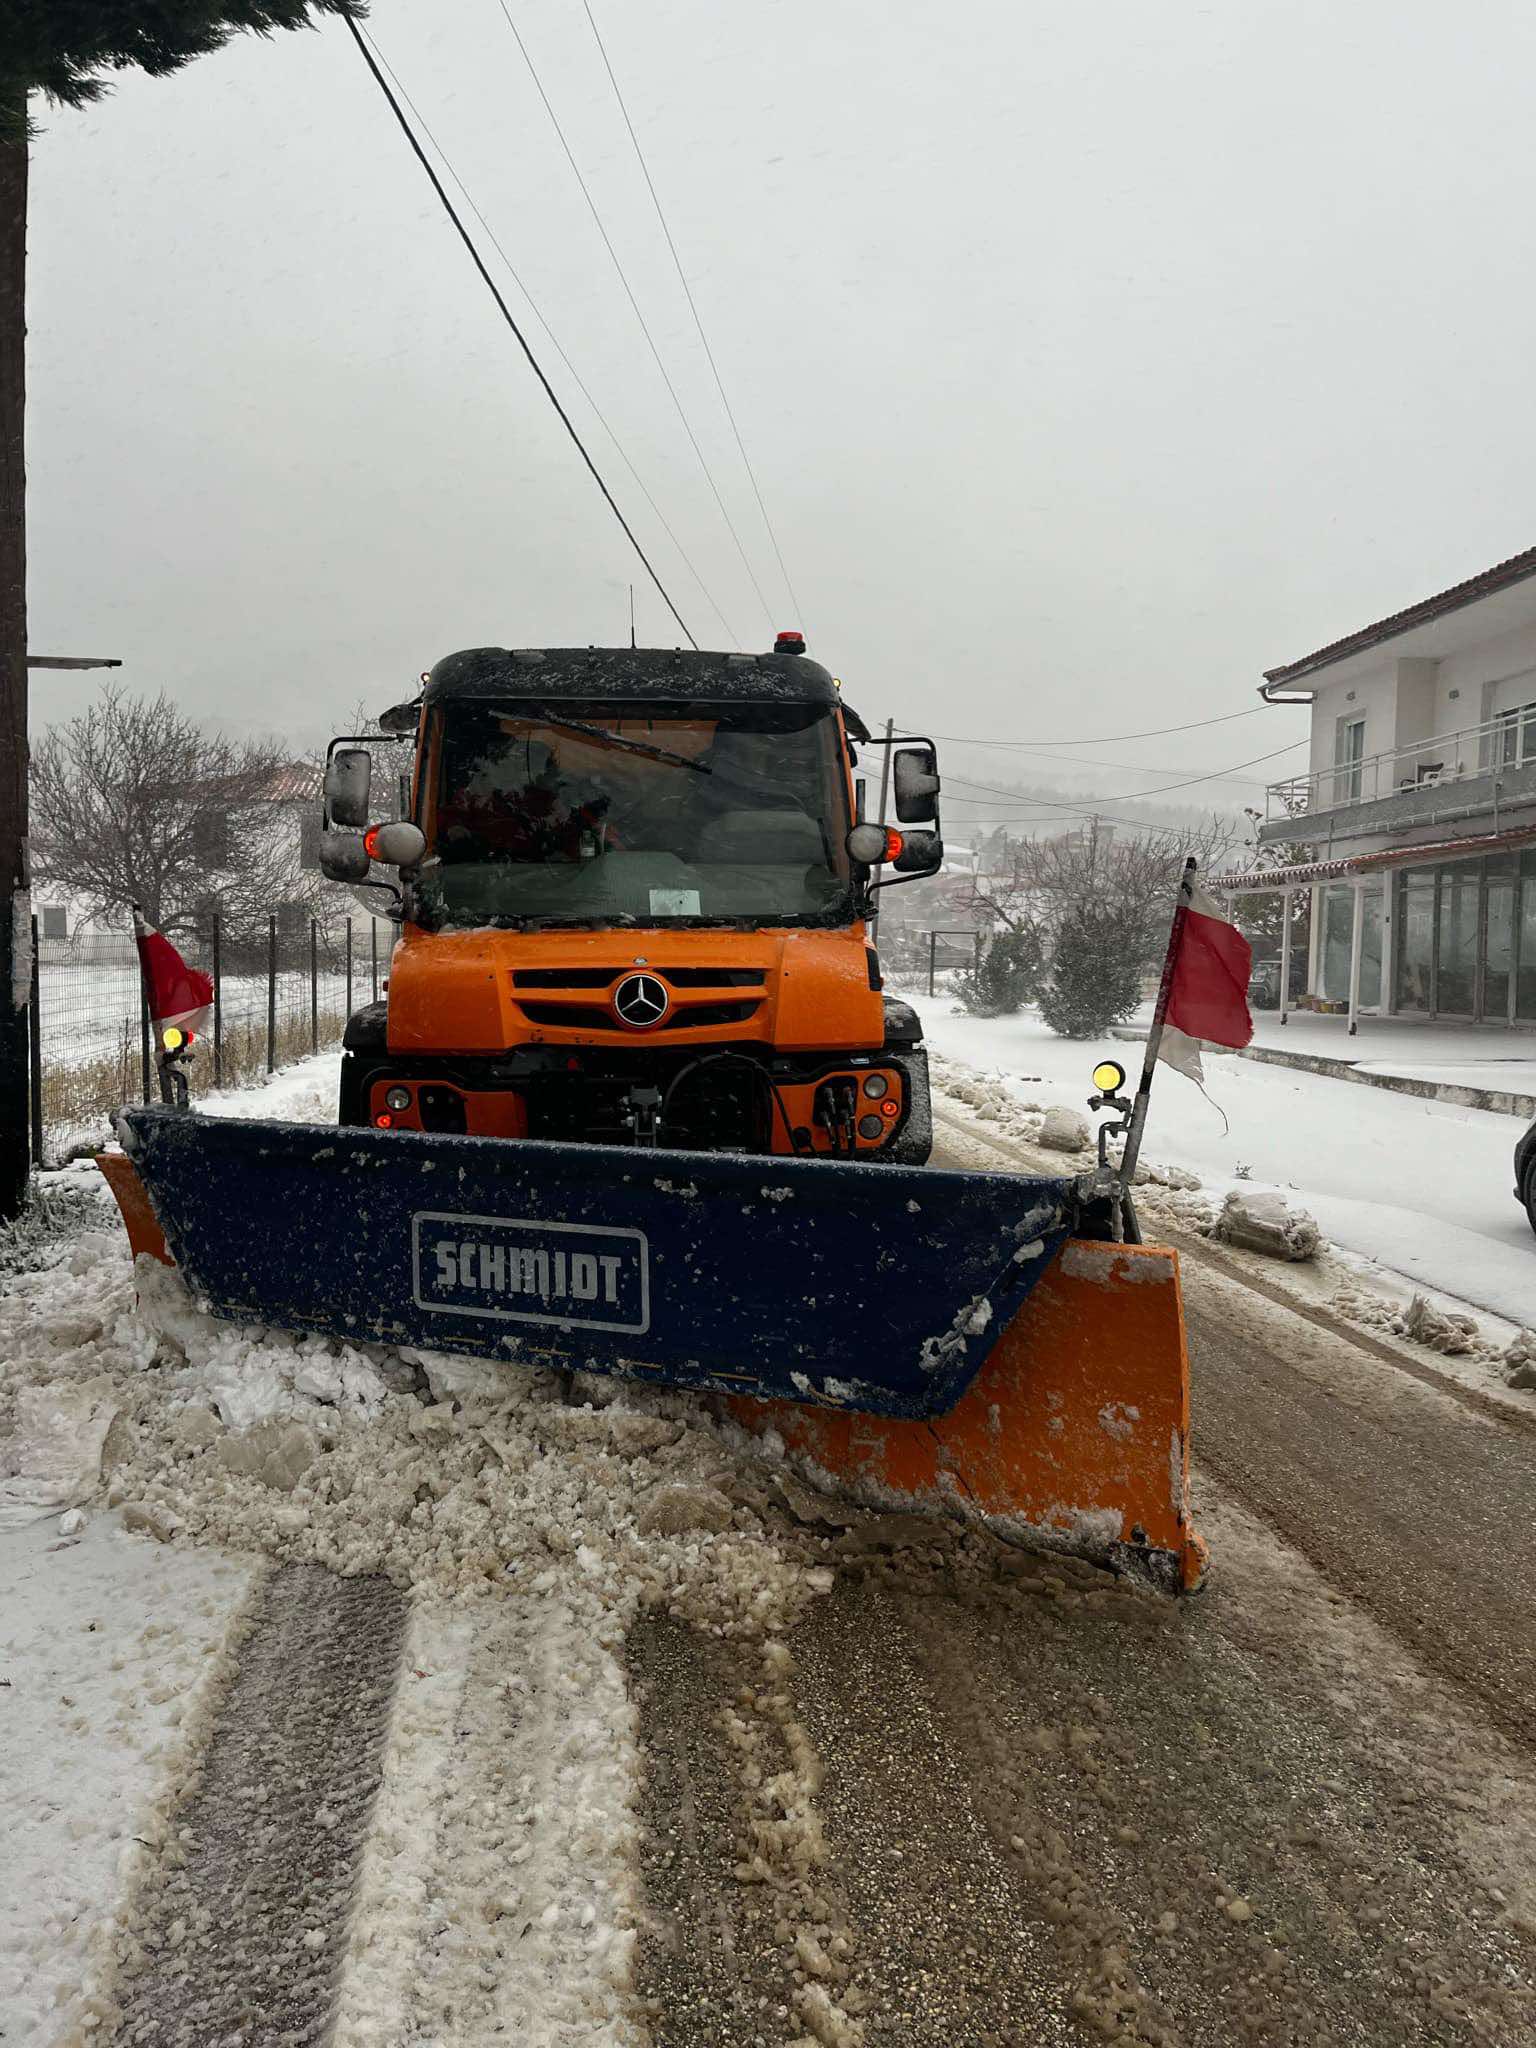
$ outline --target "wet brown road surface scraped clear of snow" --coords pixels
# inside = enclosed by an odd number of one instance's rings
[[[942,1163],[1036,1165],[950,1112],[940,1135]],[[1536,1257],[1532,1278],[1536,1294]],[[1432,1360],[1264,1286],[1188,1247],[1196,1505],[1217,1561],[1198,1602],[864,1530],[778,1667],[676,1620],[629,1630],[629,2011],[565,2007],[518,2042],[1536,2042],[1536,1434]],[[303,1587],[268,1608],[289,1638],[322,1612]],[[326,2038],[334,1985],[303,1942],[362,1835],[399,1630],[387,1602],[373,1628],[356,1669],[334,1667],[356,1688],[356,1747],[309,1698],[262,1745],[242,1724],[270,1710],[258,1618],[254,1679],[227,1702],[166,1903],[217,1923],[250,1892],[258,1921],[201,1976],[178,1948],[152,1952],[123,2038]],[[461,1829],[475,1774],[494,1804],[494,1757],[459,1751]],[[270,1829],[246,1892],[233,1882],[221,1800],[250,1800],[252,1772],[336,1786],[328,1858],[295,1849],[295,1870],[319,1872],[305,1901],[274,1896]],[[301,1827],[309,1802],[285,1810]],[[422,1960],[371,2038],[510,2040],[494,2015],[518,1929],[481,1925],[467,1991],[459,1909],[434,1884]]]

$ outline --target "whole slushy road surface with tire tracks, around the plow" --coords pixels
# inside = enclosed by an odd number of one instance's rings
[[[227,1108],[330,1102],[317,1061]],[[940,1163],[1042,1163],[938,1108]],[[82,1231],[0,1296],[0,1391],[117,1409],[168,1542],[100,1497],[8,1538],[0,1698],[47,1739],[0,2034],[1526,2048],[1536,1403],[1186,1251],[1214,1573],[1174,1606],[840,1507],[678,1397],[135,1309]],[[221,1548],[270,1563],[205,1585]]]

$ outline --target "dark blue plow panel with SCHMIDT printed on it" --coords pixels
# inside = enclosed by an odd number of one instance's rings
[[[1071,1178],[117,1124],[217,1317],[870,1415],[946,1413],[1077,1219]]]

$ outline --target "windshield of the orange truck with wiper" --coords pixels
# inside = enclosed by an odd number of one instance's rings
[[[449,705],[430,784],[430,922],[852,915],[846,778],[821,705]]]

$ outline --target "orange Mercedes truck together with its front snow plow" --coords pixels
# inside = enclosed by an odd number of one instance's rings
[[[825,1489],[1192,1589],[1176,1255],[1102,1149],[928,1163],[872,922],[942,864],[934,745],[797,633],[469,649],[381,727],[406,774],[371,735],[324,780],[324,870],[399,924],[338,1122],[125,1108],[135,1251],[215,1317],[692,1389]]]

